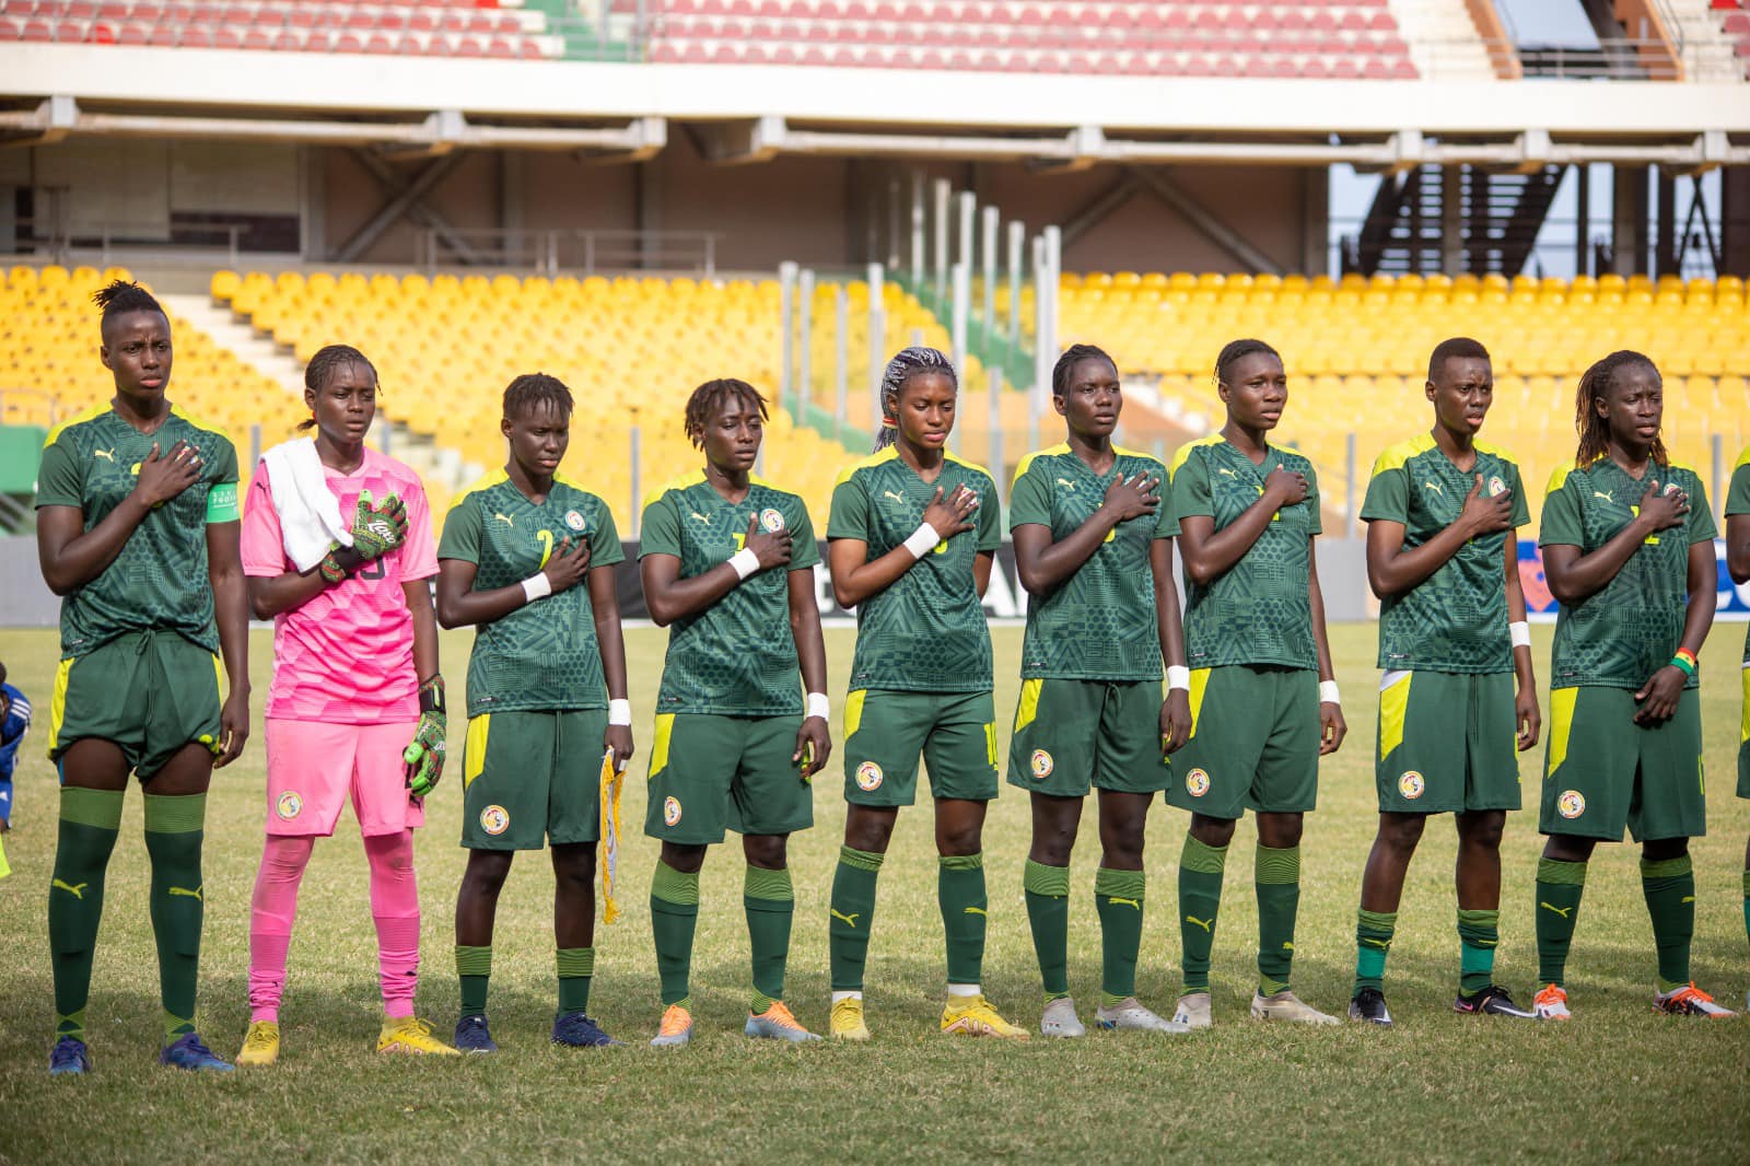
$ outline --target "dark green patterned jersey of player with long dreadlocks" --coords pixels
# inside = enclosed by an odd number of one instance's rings
[[[1578,546],[1589,555],[1640,513],[1648,488],[1678,488],[1689,494],[1689,522],[1648,534],[1617,576],[1577,604],[1556,613],[1556,646],[1550,651],[1550,688],[1640,688],[1671,662],[1684,639],[1684,609],[1689,606],[1689,548],[1712,543],[1713,513],[1706,487],[1689,466],[1647,466],[1645,478],[1631,478],[1603,457],[1586,469],[1572,462],[1556,469],[1544,495],[1538,546]],[[1696,686],[1690,676],[1684,685]]]

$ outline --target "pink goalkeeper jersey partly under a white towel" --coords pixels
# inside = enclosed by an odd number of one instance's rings
[[[430,508],[418,474],[364,450],[355,474],[324,466],[340,513],[352,516],[360,490],[378,502],[390,494],[408,508],[408,541],[310,602],[273,620],[273,685],[268,716],[331,725],[385,725],[420,716],[413,674],[413,615],[401,585],[438,574]],[[266,464],[243,501],[243,574],[296,571],[285,557]]]

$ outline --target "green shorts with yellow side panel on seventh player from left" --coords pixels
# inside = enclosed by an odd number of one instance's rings
[[[1192,739],[1172,755],[1167,805],[1204,818],[1304,814],[1318,804],[1318,672],[1192,669]]]

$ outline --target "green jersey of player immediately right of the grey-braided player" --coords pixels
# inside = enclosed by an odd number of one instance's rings
[[[1015,467],[1008,529],[1046,527],[1060,543],[1106,501],[1115,478],[1144,473],[1160,480],[1153,518],[1120,522],[1092,558],[1043,599],[1027,597],[1022,678],[1148,681],[1160,679],[1160,625],[1148,553],[1155,539],[1180,532],[1166,467],[1146,453],[1116,450],[1113,467],[1096,474],[1068,445],[1029,453]]]

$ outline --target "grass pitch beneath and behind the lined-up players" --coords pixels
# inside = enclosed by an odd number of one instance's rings
[[[1374,833],[1374,629],[1335,627],[1349,744],[1323,769],[1320,811],[1307,819],[1295,989],[1340,1010],[1353,972],[1354,907]],[[1013,707],[1018,629],[996,629],[999,718]],[[649,709],[663,634],[628,630],[644,772]],[[1538,629],[1547,664],[1549,629]],[[1741,629],[1717,629],[1704,657],[1710,837],[1694,844],[1694,973],[1729,1007],[1750,987],[1740,870],[1750,802],[1732,797]],[[446,672],[464,674],[469,636],[443,641]],[[833,692],[844,692],[850,632],[828,632]],[[592,1012],[630,1047],[560,1052],[553,1010],[551,874],[525,854],[506,888],[492,994],[495,1057],[378,1057],[374,937],[364,856],[350,812],[317,847],[304,879],[285,1052],[273,1070],[194,1077],[158,1070],[158,977],[145,916],[140,798],[130,795],[110,867],[107,917],[89,1008],[96,1073],[46,1075],[52,1007],[46,895],[56,793],[42,756],[54,672],[52,632],[0,632],[0,660],[37,702],[38,728],[18,774],[14,874],[0,882],[0,1161],[285,1159],[425,1162],[514,1157],[567,1161],[966,1159],[1298,1159],[1342,1161],[1734,1161],[1750,1145],[1750,1021],[1678,1021],[1648,1007],[1654,961],[1631,847],[1592,863],[1570,963],[1577,1019],[1564,1026],[1458,1017],[1452,830],[1430,826],[1410,870],[1388,968],[1395,1031],[1267,1028],[1246,1017],[1255,984],[1256,912],[1242,825],[1227,872],[1214,959],[1216,1026],[1192,1036],[1108,1036],[998,1043],[934,1033],[943,982],[936,865],[928,807],[901,814],[882,874],[870,952],[864,1047],[754,1045],[740,1036],[747,942],[738,847],[710,856],[693,961],[695,1042],[644,1047],[660,1005],[648,921],[654,846],[637,835],[642,783],[628,783],[634,832],[623,861],[625,914],[597,928]],[[270,639],[254,641],[256,735],[219,774],[206,830],[206,944],[201,1033],[234,1054],[247,1024],[248,893],[261,854],[261,707]],[[457,693],[460,695],[460,693]],[[460,707],[460,700],[455,702]],[[836,732],[836,727],[835,727]],[[1006,730],[1004,730],[1006,739]],[[460,760],[462,718],[452,732]],[[1006,748],[1006,746],[1004,746]],[[1530,809],[1508,823],[1498,980],[1521,1001],[1535,989],[1531,879],[1538,853],[1536,776]],[[452,907],[464,853],[455,765],[420,833],[425,982],[420,1014],[455,1022]],[[838,767],[817,783],[819,825],[791,847],[796,933],[789,1001],[826,1028],[826,895],[844,809]],[[1150,826],[1148,924],[1139,994],[1160,1010],[1178,987],[1176,860],[1185,816],[1157,807]],[[1036,1026],[1040,980],[1020,893],[1027,802],[1004,788],[985,835],[990,945],[985,989],[1013,1021]],[[1092,905],[1097,844],[1092,804],[1074,860],[1071,987],[1097,1003],[1099,928]]]

